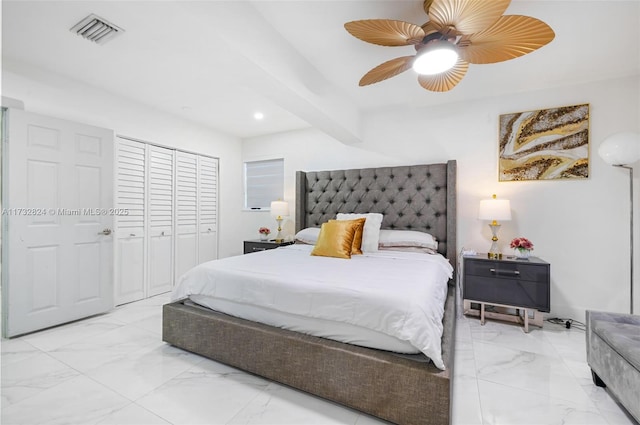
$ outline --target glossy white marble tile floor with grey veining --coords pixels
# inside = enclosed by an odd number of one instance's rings
[[[1,423],[384,424],[161,341],[167,295],[2,340]],[[591,382],[584,331],[462,317],[453,424],[633,424]]]

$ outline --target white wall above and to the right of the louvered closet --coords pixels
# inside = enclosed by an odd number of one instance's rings
[[[27,66],[2,70],[2,95],[24,102],[25,110],[113,129],[117,135],[220,158],[219,256],[242,253],[238,237],[242,207],[241,143],[141,103]],[[176,105],[178,108],[179,105]]]

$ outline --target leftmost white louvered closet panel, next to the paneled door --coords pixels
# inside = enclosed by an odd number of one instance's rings
[[[118,139],[116,202],[116,305],[145,297],[146,145]]]

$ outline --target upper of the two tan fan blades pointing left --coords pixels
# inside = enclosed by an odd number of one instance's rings
[[[354,37],[381,46],[418,44],[424,38],[424,31],[418,25],[390,19],[352,21],[344,27]]]

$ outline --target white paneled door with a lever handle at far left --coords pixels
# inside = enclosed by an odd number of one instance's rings
[[[3,150],[3,333],[113,307],[113,132],[9,110]]]

